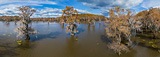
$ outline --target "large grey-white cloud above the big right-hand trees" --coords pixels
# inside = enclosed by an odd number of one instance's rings
[[[140,5],[143,0],[78,0],[82,2],[83,5],[89,6],[92,9],[100,9],[101,13],[105,16],[108,15],[108,9],[115,6],[120,6],[122,8],[131,9]]]

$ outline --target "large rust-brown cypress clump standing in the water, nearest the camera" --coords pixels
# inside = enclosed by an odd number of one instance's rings
[[[130,10],[115,7],[109,11],[110,17],[106,28],[106,35],[112,40],[108,47],[116,53],[128,52],[132,44],[131,36],[139,29],[140,25],[133,18]],[[126,42],[126,43],[125,43]]]

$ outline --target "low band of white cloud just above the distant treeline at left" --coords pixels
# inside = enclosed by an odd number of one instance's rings
[[[20,11],[18,10],[18,7],[21,5],[17,4],[9,4],[5,6],[0,7],[0,16],[18,16]],[[36,9],[36,8],[33,8]],[[90,13],[86,10],[76,9],[79,13]],[[62,15],[62,9],[58,8],[49,8],[45,7],[42,9],[36,9],[36,12],[33,14],[32,17],[59,17]]]

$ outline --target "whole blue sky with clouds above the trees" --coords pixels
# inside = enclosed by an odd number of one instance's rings
[[[17,7],[36,9],[32,17],[58,17],[66,6],[73,6],[79,13],[108,15],[114,6],[134,10],[135,13],[151,7],[160,7],[160,0],[0,0],[0,16],[15,16]]]

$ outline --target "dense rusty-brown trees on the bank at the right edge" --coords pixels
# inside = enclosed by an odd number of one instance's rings
[[[144,33],[152,33],[152,38],[157,38],[160,30],[160,9],[150,8],[138,13],[135,17],[143,24]]]

